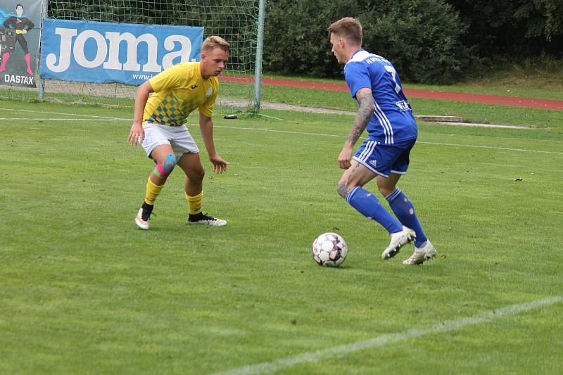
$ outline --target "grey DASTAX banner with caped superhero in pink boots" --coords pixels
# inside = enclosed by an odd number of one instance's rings
[[[0,84],[35,87],[42,0],[0,0]]]

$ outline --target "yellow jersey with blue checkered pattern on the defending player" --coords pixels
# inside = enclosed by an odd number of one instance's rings
[[[219,89],[217,77],[203,80],[199,63],[179,63],[152,77],[154,93],[148,98],[143,123],[177,127],[194,110],[211,117]]]

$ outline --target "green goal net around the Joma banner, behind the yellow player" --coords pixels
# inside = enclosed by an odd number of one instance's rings
[[[219,77],[217,108],[224,113],[254,106],[259,0],[49,0],[46,13],[56,20],[204,27],[204,39],[218,35],[231,44],[229,63]],[[118,83],[43,82],[40,96],[70,103],[131,105],[137,91],[137,87]],[[11,93],[15,95],[18,93]],[[35,98],[37,95],[36,89]]]

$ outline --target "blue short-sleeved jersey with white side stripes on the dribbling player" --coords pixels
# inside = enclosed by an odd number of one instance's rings
[[[372,90],[375,109],[367,124],[371,139],[396,144],[417,138],[417,122],[393,64],[359,49],[346,63],[344,75],[353,98],[359,89]]]

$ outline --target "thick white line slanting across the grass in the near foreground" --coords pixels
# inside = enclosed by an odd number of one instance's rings
[[[409,329],[408,331],[398,332],[398,333],[388,333],[386,335],[377,336],[370,338],[365,341],[356,341],[355,343],[349,343],[345,345],[333,346],[332,348],[317,350],[316,352],[305,352],[302,355],[297,355],[294,357],[287,357],[282,360],[274,360],[272,362],[262,362],[258,364],[250,364],[248,366],[239,367],[236,369],[231,369],[223,372],[218,372],[215,375],[247,375],[247,374],[260,374],[267,371],[278,371],[280,369],[286,369],[288,367],[293,367],[296,364],[306,363],[306,362],[316,362],[323,357],[330,356],[341,356],[351,352],[358,352],[360,350],[378,348],[387,344],[396,343],[397,341],[403,341],[410,338],[418,338],[420,336],[431,335],[434,333],[457,331],[467,326],[474,326],[476,324],[484,324],[492,322],[495,319],[500,319],[504,317],[512,317],[522,312],[528,312],[530,310],[535,310],[540,307],[555,305],[556,303],[562,303],[563,296],[555,296],[550,298],[545,298],[543,300],[535,300],[529,303],[521,303],[518,305],[511,305],[507,307],[502,307],[492,312],[483,312],[481,314],[476,314],[472,317],[465,317],[460,319],[451,319],[444,322],[436,323],[434,326],[429,326],[424,329]]]

